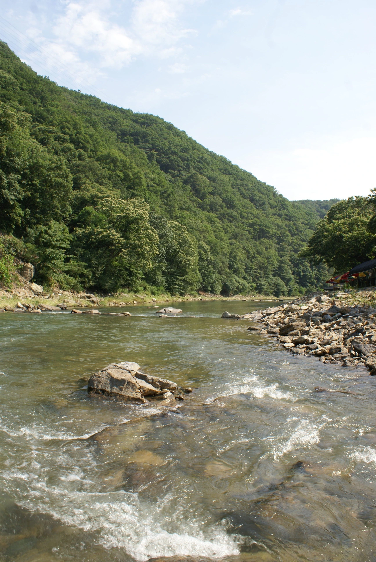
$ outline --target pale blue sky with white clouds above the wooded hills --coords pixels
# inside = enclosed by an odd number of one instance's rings
[[[290,200],[376,187],[374,0],[0,0],[38,74],[158,115]]]

